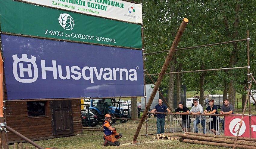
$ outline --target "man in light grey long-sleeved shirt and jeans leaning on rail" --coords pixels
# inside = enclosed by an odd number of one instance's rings
[[[198,104],[197,99],[194,99],[193,101],[194,106],[191,108],[191,110],[189,111],[189,113],[191,114],[203,114],[204,110],[203,107]],[[194,127],[194,132],[198,133],[198,129],[197,129],[197,124],[201,123],[202,127],[203,127],[203,133],[206,133],[206,118],[204,115],[195,115],[195,120],[193,121],[193,127]]]

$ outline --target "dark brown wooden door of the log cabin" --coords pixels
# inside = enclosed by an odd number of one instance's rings
[[[51,101],[52,134],[73,133],[71,100]]]

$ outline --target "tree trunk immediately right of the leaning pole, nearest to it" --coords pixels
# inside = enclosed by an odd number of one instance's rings
[[[173,60],[171,62],[173,62]],[[170,72],[174,72],[173,65],[174,65],[173,63],[170,64]],[[168,104],[171,109],[173,109],[173,95],[174,95],[174,74],[170,74],[169,88],[168,88]],[[173,116],[167,116],[167,120],[173,121]]]

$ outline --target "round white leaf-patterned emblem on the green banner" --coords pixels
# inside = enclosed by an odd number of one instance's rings
[[[72,30],[75,25],[73,18],[67,13],[60,14],[59,23],[65,30]]]

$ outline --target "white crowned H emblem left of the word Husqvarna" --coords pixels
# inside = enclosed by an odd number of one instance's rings
[[[14,74],[15,79],[17,81],[21,82],[21,83],[35,82],[37,77],[38,77],[36,57],[31,56],[31,59],[28,59],[27,54],[21,54],[21,55],[22,55],[21,58],[18,58],[17,54],[12,56],[12,59],[14,60],[13,65],[12,65],[12,70],[13,70],[13,74]],[[23,66],[22,62],[29,62],[29,63],[27,63],[27,67],[26,67],[26,66]],[[32,66],[31,66],[31,64],[32,64],[33,69],[34,69],[34,73],[33,73],[34,76],[32,75]],[[19,70],[20,70],[20,76],[18,75],[18,72],[17,72],[17,66],[19,67]],[[28,72],[28,77],[31,78],[31,79],[22,79],[21,77],[24,77],[24,72]]]

